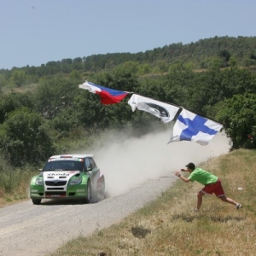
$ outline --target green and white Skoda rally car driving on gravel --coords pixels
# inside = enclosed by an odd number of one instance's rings
[[[42,199],[105,198],[105,177],[96,166],[93,154],[53,155],[38,176],[32,177],[30,197],[34,205]]]

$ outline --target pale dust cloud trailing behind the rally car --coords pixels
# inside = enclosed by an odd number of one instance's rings
[[[170,131],[140,138],[124,137],[121,133],[115,134],[105,146],[93,152],[105,175],[108,197],[123,194],[148,179],[174,177],[174,172],[189,162],[199,166],[230,150],[230,139],[224,133],[218,133],[207,146],[191,142],[167,144]]]

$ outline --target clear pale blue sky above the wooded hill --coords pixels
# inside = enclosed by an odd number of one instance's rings
[[[0,0],[0,69],[256,36],[255,0]]]

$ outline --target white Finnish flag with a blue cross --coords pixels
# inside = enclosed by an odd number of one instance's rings
[[[169,143],[191,141],[207,145],[223,125],[184,109],[177,117]]]

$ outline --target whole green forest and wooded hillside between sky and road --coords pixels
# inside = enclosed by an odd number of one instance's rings
[[[256,148],[256,38],[209,38],[144,53],[91,55],[41,67],[0,70],[0,154],[10,166],[37,166],[66,153],[63,141],[122,129],[148,132],[148,113],[129,96],[102,105],[84,80],[182,106],[224,125],[232,148]],[[255,65],[256,66],[256,65]],[[67,144],[67,143],[66,143]],[[61,152],[60,152],[61,150]],[[1,166],[0,166],[1,168]]]

